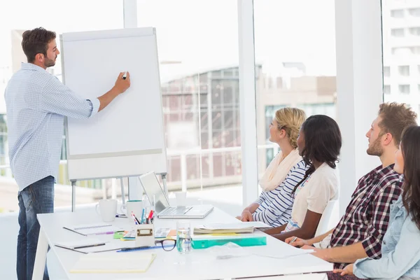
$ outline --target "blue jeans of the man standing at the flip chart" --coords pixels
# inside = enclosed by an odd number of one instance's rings
[[[19,280],[31,280],[39,235],[36,214],[54,211],[54,177],[48,176],[27,186],[18,193],[18,200],[20,230],[16,272]],[[43,279],[49,279],[46,265]]]

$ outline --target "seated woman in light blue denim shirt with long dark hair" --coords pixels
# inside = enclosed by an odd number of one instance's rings
[[[404,184],[402,195],[391,205],[388,230],[382,240],[382,257],[356,260],[354,265],[334,272],[354,274],[361,279],[420,279],[419,139],[420,127],[407,127],[395,153],[394,170],[404,174]]]

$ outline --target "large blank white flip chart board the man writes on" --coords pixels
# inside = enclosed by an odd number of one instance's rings
[[[111,90],[129,71],[130,88],[87,120],[67,118],[69,180],[167,173],[155,29],[64,33],[63,83],[85,99]]]

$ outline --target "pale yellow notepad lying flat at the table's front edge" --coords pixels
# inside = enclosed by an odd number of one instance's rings
[[[154,253],[102,253],[82,255],[70,273],[146,272],[155,260]]]

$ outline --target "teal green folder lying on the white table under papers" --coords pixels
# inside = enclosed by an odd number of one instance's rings
[[[195,249],[204,249],[211,246],[221,246],[229,242],[235,243],[239,246],[261,246],[267,245],[267,238],[265,236],[253,237],[225,237],[225,238],[194,238],[191,241],[191,246]]]

